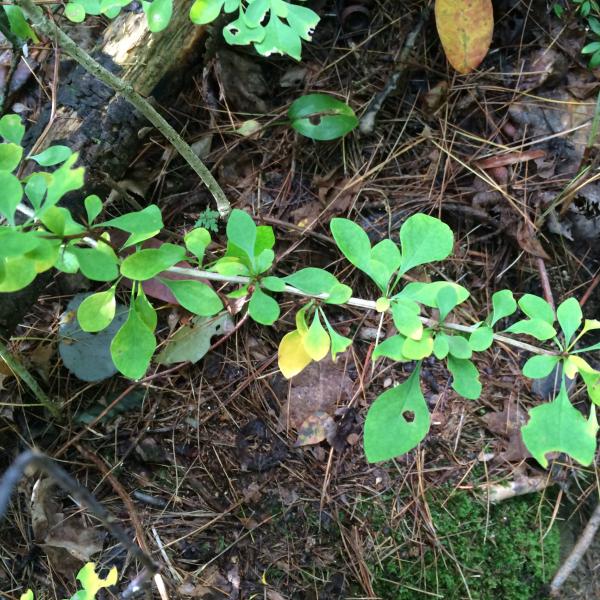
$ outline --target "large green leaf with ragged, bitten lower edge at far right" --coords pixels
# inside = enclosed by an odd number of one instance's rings
[[[564,452],[584,466],[591,465],[597,432],[595,407],[586,419],[569,401],[564,381],[552,402],[529,411],[529,422],[521,429],[527,450],[544,468],[548,452]]]

